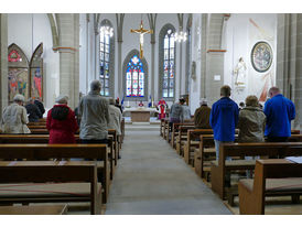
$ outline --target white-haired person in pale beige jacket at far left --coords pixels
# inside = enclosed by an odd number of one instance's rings
[[[23,102],[24,96],[18,94],[13,97],[13,104],[3,109],[1,119],[2,133],[31,133],[26,126],[29,118]]]

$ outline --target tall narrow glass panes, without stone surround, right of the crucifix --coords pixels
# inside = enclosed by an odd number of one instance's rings
[[[169,29],[163,37],[163,98],[174,97],[175,46],[174,33]]]

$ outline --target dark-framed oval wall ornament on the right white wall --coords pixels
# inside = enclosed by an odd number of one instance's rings
[[[259,73],[267,72],[272,63],[272,50],[267,42],[258,42],[254,45],[250,54],[251,65]]]

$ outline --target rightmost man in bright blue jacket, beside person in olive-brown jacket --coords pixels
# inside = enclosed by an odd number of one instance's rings
[[[269,97],[263,110],[267,116],[265,136],[269,142],[285,142],[291,136],[291,120],[295,117],[294,104],[282,96],[278,87],[269,89]]]

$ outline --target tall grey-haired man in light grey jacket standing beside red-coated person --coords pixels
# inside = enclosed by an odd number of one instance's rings
[[[84,96],[78,105],[80,116],[79,138],[83,143],[107,143],[109,110],[108,101],[99,93],[99,80],[93,80],[90,91]]]

